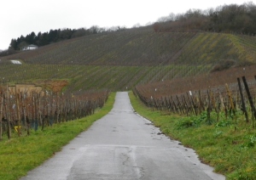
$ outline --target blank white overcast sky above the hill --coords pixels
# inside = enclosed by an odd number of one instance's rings
[[[254,1],[254,0],[253,0]],[[183,14],[189,8],[216,8],[246,3],[247,0],[1,0],[0,49],[7,49],[12,38],[34,31],[59,28],[78,29],[145,25],[168,14]]]

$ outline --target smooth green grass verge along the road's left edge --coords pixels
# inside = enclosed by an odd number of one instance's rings
[[[0,142],[0,179],[12,180],[25,176],[60,151],[63,145],[84,132],[94,121],[108,114],[113,108],[114,96],[115,93],[111,93],[108,102],[94,115],[45,127],[44,131],[32,132],[30,136]]]

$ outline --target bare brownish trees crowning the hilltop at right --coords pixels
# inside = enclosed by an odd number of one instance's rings
[[[214,31],[256,35],[256,6],[253,2],[230,4],[207,10],[189,9],[169,14],[153,25],[154,31]]]

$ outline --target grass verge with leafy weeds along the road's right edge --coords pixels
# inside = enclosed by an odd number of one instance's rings
[[[166,136],[195,149],[202,162],[224,174],[227,179],[256,179],[256,130],[244,123],[243,115],[220,121],[212,113],[183,117],[170,115],[159,110],[150,110],[139,98],[130,93],[131,104],[140,115],[154,122]],[[208,124],[208,125],[207,125]],[[209,125],[211,124],[211,125]]]

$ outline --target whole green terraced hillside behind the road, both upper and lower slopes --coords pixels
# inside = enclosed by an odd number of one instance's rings
[[[66,79],[68,91],[126,90],[208,73],[225,61],[233,66],[254,64],[255,40],[207,32],[154,32],[150,27],[102,33],[3,57],[0,81]],[[10,59],[20,59],[22,65],[13,65]]]

